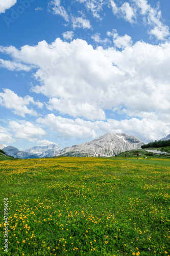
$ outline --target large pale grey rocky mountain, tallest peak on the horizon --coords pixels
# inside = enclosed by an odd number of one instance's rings
[[[60,156],[114,156],[120,152],[136,150],[141,148],[144,143],[134,136],[129,136],[125,133],[107,133],[98,139],[63,148]]]

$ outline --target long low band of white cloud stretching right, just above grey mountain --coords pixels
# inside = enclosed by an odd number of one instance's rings
[[[117,121],[108,119],[107,121],[84,121],[80,118],[76,120],[49,114],[44,118],[38,118],[38,123],[48,126],[57,136],[74,137],[81,139],[94,139],[105,133],[126,133],[136,136],[144,142],[161,139],[170,133],[170,122],[168,126],[161,120],[151,118],[131,118],[129,120]],[[162,129],[160,129],[160,127]]]

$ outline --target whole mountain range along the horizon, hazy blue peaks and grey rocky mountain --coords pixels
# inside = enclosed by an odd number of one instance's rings
[[[169,139],[170,134],[161,140]],[[54,156],[85,157],[87,155],[95,157],[98,154],[110,157],[120,152],[140,149],[141,145],[144,145],[144,143],[134,136],[129,136],[125,133],[107,133],[98,139],[79,145],[68,146],[63,148],[63,150],[56,143],[29,147],[25,151],[19,151],[16,147],[4,146],[0,143],[0,149],[8,156],[22,159]]]

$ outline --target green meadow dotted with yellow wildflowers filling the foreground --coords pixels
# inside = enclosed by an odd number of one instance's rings
[[[170,255],[169,160],[9,160],[0,172],[0,255]]]

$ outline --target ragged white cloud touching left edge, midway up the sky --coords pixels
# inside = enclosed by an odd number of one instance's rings
[[[22,117],[25,117],[25,114],[38,116],[35,110],[27,108],[27,105],[31,103],[37,105],[38,108],[43,106],[43,103],[34,101],[33,97],[27,95],[22,98],[9,89],[4,89],[4,93],[0,93],[0,105],[5,106],[5,108],[12,110],[14,114]]]

